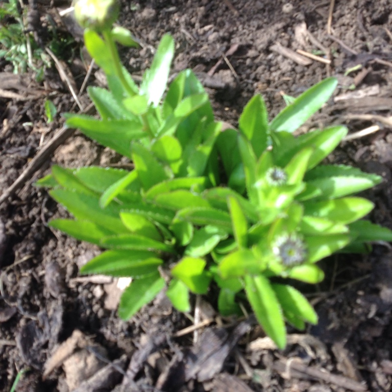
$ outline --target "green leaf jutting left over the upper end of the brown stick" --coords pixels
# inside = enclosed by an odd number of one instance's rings
[[[79,128],[86,136],[105,147],[131,158],[131,142],[146,137],[143,125],[133,120],[97,120],[86,115],[68,117],[66,125]]]

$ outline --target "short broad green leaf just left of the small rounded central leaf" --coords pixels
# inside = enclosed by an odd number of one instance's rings
[[[146,147],[139,143],[132,145],[132,160],[144,190],[147,191],[152,186],[168,179],[168,175],[162,165]]]

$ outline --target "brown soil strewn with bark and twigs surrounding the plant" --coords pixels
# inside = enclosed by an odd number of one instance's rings
[[[254,94],[262,94],[272,119],[285,105],[283,94],[297,96],[322,78],[336,76],[334,98],[301,131],[341,123],[351,134],[379,125],[375,133],[342,143],[328,159],[383,176],[383,183],[365,196],[375,204],[370,219],[392,228],[392,3],[337,0],[328,33],[331,3],[123,1],[120,23],[142,49],[122,49],[121,55],[137,78],[160,37],[172,33],[172,72],[193,69],[217,118],[234,126]],[[58,31],[77,37],[74,24],[69,19],[61,24],[54,12],[54,7],[69,4],[49,6],[49,1],[37,0],[36,5],[41,23],[33,29],[44,45],[48,15]],[[65,56],[63,66],[79,91],[86,68],[77,48],[75,44],[73,54]],[[306,57],[294,61],[284,49],[316,53],[330,63]],[[61,128],[61,114],[77,110],[54,66],[41,83],[32,72],[14,76],[10,71],[1,59],[1,194]],[[101,83],[96,71],[89,84]],[[49,124],[44,110],[48,97],[58,108]],[[80,101],[89,103],[85,94]],[[319,324],[304,334],[289,330],[285,350],[274,348],[252,318],[222,320],[203,298],[196,299],[196,321],[175,312],[163,296],[130,321],[119,319],[116,282],[78,274],[99,249],[51,231],[49,219],[65,212],[45,190],[33,186],[54,163],[77,167],[114,162],[110,151],[76,133],[0,206],[0,391],[10,391],[22,369],[27,371],[18,392],[392,389],[389,244],[374,245],[368,255],[321,263],[325,281],[303,288]],[[207,320],[208,326],[183,331],[197,319]]]

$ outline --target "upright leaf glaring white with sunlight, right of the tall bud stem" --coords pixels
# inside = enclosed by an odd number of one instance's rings
[[[174,40],[165,34],[158,46],[149,70],[143,76],[140,87],[142,95],[146,95],[148,103],[157,106],[165,92],[170,66],[174,55]]]

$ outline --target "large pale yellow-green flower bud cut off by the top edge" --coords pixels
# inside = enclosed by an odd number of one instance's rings
[[[110,29],[120,11],[118,0],[74,0],[75,19],[84,28]]]

